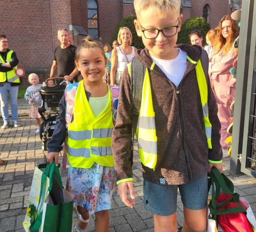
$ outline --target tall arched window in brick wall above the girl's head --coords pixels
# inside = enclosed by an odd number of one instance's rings
[[[88,33],[93,38],[98,38],[98,13],[97,2],[95,0],[88,0]]]

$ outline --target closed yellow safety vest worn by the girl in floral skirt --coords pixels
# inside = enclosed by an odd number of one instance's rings
[[[73,116],[73,122],[68,124],[67,156],[70,165],[91,168],[96,162],[113,167],[111,136],[114,125],[109,86],[108,104],[96,118],[86,98],[84,82],[80,81],[74,99]]]

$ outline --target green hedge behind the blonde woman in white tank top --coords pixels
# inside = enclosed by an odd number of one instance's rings
[[[126,18],[122,18],[122,20],[115,27],[114,34],[112,36],[112,40],[111,40],[110,44],[112,44],[112,42],[114,40],[117,40],[119,28],[126,26],[132,32],[132,46],[134,46],[135,48],[144,48],[145,47],[144,44],[142,43],[141,37],[137,36],[135,26],[133,23],[134,19],[136,19],[136,16],[132,15],[132,14]]]

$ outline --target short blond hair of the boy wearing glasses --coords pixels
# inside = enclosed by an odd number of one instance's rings
[[[164,18],[169,12],[180,13],[180,0],[134,0],[134,9],[138,15],[150,8],[159,18]]]

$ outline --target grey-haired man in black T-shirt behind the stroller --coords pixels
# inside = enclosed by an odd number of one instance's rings
[[[50,78],[58,73],[58,76],[64,76],[66,80],[71,81],[73,78],[77,81],[78,69],[75,66],[76,47],[69,43],[70,35],[68,30],[58,30],[58,39],[60,46],[54,49],[53,63],[50,72]],[[59,84],[62,80],[57,80]]]

